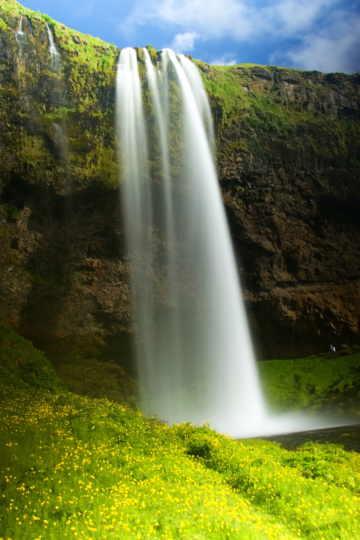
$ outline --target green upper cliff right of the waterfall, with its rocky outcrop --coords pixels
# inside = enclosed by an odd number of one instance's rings
[[[219,152],[229,156],[260,152],[261,147],[271,152],[275,149],[269,149],[269,143],[280,143],[290,151],[350,161],[351,171],[359,171],[354,152],[360,138],[359,123],[354,122],[359,114],[358,75],[195,63],[212,105]],[[238,137],[229,141],[234,125],[240,126]]]

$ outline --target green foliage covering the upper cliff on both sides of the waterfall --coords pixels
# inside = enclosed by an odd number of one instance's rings
[[[60,193],[94,183],[116,187],[119,50],[15,0],[2,0],[0,5],[2,181],[15,175],[25,183],[51,185]],[[18,34],[21,16],[23,36]],[[51,69],[45,24],[61,56],[59,69]],[[148,51],[155,62],[157,51],[150,45]],[[137,53],[144,79],[144,56],[141,49]],[[358,170],[359,158],[352,152],[360,137],[358,124],[337,114],[338,105],[346,109],[356,102],[356,76],[344,80],[275,66],[210,68],[195,63],[203,72],[212,105],[220,157],[256,151],[275,159],[269,143],[279,143],[288,150],[350,160],[351,168]],[[144,92],[146,97],[146,82]],[[229,140],[235,126],[236,137],[233,133]],[[156,134],[150,137],[156,139]],[[175,162],[175,139],[174,143]]]

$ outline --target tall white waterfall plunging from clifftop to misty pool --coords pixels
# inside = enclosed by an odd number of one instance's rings
[[[170,50],[159,64],[147,49],[139,54],[140,62],[133,49],[120,53],[117,104],[142,409],[235,437],[329,425],[268,415],[200,74]]]

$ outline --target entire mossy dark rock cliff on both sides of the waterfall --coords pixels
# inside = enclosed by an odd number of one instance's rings
[[[130,388],[119,50],[13,0],[0,6],[0,320],[44,348],[65,380],[71,359],[73,388],[82,377],[90,392],[87,367],[99,360],[116,360],[103,362],[106,376]],[[194,62],[259,353],[359,342],[360,76]]]

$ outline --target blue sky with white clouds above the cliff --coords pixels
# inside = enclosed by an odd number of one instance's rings
[[[360,0],[23,0],[118,48],[169,47],[208,64],[360,71]]]

